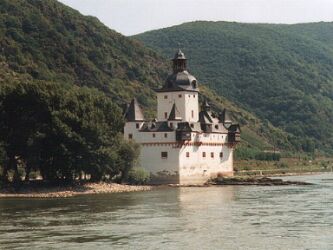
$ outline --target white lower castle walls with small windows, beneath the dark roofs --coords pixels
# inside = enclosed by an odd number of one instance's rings
[[[203,184],[219,173],[233,174],[233,149],[227,146],[226,133],[192,132],[191,140],[179,147],[175,131],[139,132],[136,124],[127,122],[124,136],[132,134],[141,144],[140,166],[152,173],[153,182]],[[168,157],[163,159],[162,152],[167,152]]]

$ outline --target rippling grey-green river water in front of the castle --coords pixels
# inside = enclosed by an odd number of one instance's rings
[[[161,188],[0,200],[0,249],[333,249],[333,174],[313,186]]]

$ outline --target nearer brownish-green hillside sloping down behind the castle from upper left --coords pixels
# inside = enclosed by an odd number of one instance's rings
[[[136,96],[149,117],[156,108],[152,89],[164,83],[170,70],[168,60],[142,43],[54,0],[2,0],[0,48],[0,84],[29,79],[64,88],[88,86],[103,91],[120,106]],[[185,52],[192,59],[192,52]],[[168,57],[173,54],[171,49]],[[197,76],[194,63],[190,61],[190,70]],[[199,84],[202,79],[198,78]],[[234,119],[242,125],[246,150],[294,149],[286,132],[207,87],[201,89],[216,110],[227,107],[234,112]]]

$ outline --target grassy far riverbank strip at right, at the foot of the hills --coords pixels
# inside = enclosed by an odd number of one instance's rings
[[[280,161],[235,161],[236,176],[272,176],[333,171],[332,158],[282,158]]]

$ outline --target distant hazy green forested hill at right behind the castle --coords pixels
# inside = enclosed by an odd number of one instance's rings
[[[294,135],[299,150],[333,152],[333,23],[192,22],[134,38],[164,56],[180,44],[219,95]]]

